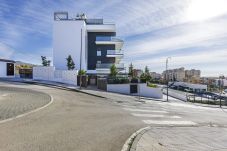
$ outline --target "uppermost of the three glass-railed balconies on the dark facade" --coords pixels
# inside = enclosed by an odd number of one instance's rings
[[[117,37],[97,36],[95,43],[97,45],[115,45],[115,48],[118,50],[122,48],[124,41]]]

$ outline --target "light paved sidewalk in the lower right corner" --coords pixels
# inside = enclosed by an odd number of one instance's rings
[[[227,150],[224,127],[152,127],[136,139],[131,151]]]

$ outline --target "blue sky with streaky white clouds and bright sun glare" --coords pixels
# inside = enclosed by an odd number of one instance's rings
[[[41,64],[52,59],[53,13],[114,22],[124,41],[122,62],[200,69],[227,76],[227,0],[0,0],[0,58]]]

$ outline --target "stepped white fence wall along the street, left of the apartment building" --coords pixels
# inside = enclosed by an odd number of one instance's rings
[[[54,67],[33,67],[34,80],[56,81],[77,85],[77,70],[55,70]]]

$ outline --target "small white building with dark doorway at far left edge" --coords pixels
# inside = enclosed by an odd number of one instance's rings
[[[15,61],[8,59],[0,59],[0,77],[14,77]]]

